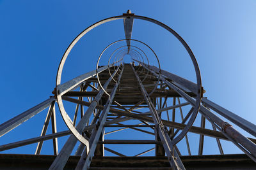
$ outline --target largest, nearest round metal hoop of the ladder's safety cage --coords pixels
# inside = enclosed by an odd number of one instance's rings
[[[70,129],[70,131],[74,134],[74,136],[76,136],[76,138],[81,141],[81,143],[83,143],[84,145],[88,146],[88,141],[83,138],[83,136],[81,134],[79,134],[79,132],[77,131],[77,129],[72,125],[72,120],[70,119],[70,117],[68,117],[67,112],[65,111],[65,108],[63,106],[63,101],[61,99],[61,94],[58,93],[58,87],[61,84],[61,74],[63,71],[63,66],[65,64],[65,61],[67,60],[68,54],[70,53],[70,51],[72,50],[72,48],[74,47],[74,45],[76,45],[77,41],[79,41],[79,39],[81,39],[87,32],[91,31],[93,28],[104,24],[106,22],[110,22],[113,20],[118,20],[118,19],[124,19],[124,18],[136,18],[136,19],[140,19],[140,20],[147,20],[148,22],[152,22],[154,24],[157,24],[161,27],[163,27],[164,29],[166,29],[167,31],[169,31],[170,33],[172,33],[177,39],[179,39],[180,43],[182,43],[182,45],[186,48],[187,52],[189,53],[189,56],[193,62],[193,66],[195,68],[195,72],[196,72],[196,82],[197,82],[197,89],[198,92],[196,94],[196,103],[194,105],[194,109],[193,109],[193,113],[191,115],[191,118],[189,119],[188,124],[186,125],[186,127],[184,128],[184,131],[182,131],[179,136],[177,136],[176,138],[173,139],[173,143],[174,145],[179,142],[188,132],[189,128],[191,127],[191,125],[193,124],[193,122],[195,121],[195,117],[198,113],[198,110],[200,108],[200,102],[201,102],[201,98],[202,98],[202,81],[201,81],[201,75],[200,75],[200,70],[198,67],[198,63],[196,62],[195,59],[195,55],[193,54],[193,52],[191,51],[191,49],[189,48],[188,44],[186,43],[186,41],[184,41],[184,39],[182,39],[179,34],[177,34],[177,32],[173,31],[173,29],[171,29],[170,27],[168,27],[167,25],[154,20],[152,18],[148,18],[148,17],[142,17],[142,16],[138,16],[138,15],[120,15],[120,16],[116,16],[116,17],[110,17],[110,18],[106,18],[104,20],[100,20],[99,22],[96,22],[95,24],[91,25],[90,27],[84,29],[83,32],[81,32],[73,41],[72,43],[70,43],[70,45],[68,46],[67,50],[65,51],[65,53],[63,54],[63,57],[61,59],[60,65],[58,67],[58,73],[56,76],[56,98],[58,101],[58,106],[60,109],[60,113],[61,116],[63,118],[63,120],[65,121],[65,124],[67,125],[68,129]],[[161,71],[161,70],[160,70]]]

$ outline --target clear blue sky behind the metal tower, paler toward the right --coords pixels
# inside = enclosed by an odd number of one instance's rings
[[[51,96],[58,64],[77,34],[94,22],[127,10],[159,20],[178,32],[198,61],[205,96],[256,124],[255,9],[255,1],[0,0],[0,124]],[[122,38],[121,20],[90,32],[71,53],[63,80],[95,69],[99,52]],[[136,21],[132,38],[152,46],[164,69],[193,80],[188,55],[172,36],[154,25]],[[82,60],[77,63],[76,59]],[[70,71],[72,68],[75,70]],[[58,131],[67,129],[57,114]],[[36,115],[0,138],[0,145],[40,136],[44,118],[45,113]],[[226,153],[232,153],[232,145],[223,145],[229,147]],[[32,146],[11,152],[33,153]]]

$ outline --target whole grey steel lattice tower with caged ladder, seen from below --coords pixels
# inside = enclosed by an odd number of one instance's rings
[[[65,61],[79,39],[101,24],[120,19],[124,20],[125,39],[111,43],[102,51],[94,71],[61,83]],[[132,39],[134,20],[152,22],[173,34],[189,54],[196,82],[161,69],[156,52],[146,43]],[[104,52],[120,42],[126,45],[106,55],[109,57],[108,64],[99,66]],[[154,54],[156,66],[150,64],[147,52],[132,45],[133,42],[146,46]],[[130,63],[124,62],[127,55],[131,57]],[[247,138],[232,124],[254,137],[256,125],[207,99],[204,92],[195,56],[177,32],[157,20],[134,15],[131,11],[106,18],[85,29],[68,46],[58,69],[56,88],[52,92],[54,96],[0,125],[0,136],[3,136],[48,109],[40,136],[0,146],[0,151],[4,151],[37,143],[35,155],[3,153],[0,155],[1,169],[255,168],[256,139]],[[70,103],[76,105],[72,113],[67,110]],[[68,131],[57,132],[56,104]],[[199,126],[194,124],[196,117],[200,117]],[[205,127],[206,122],[211,124],[212,129]],[[46,134],[49,124],[52,133]],[[127,129],[151,137],[146,139],[142,135],[140,140],[131,139],[132,136],[125,135]],[[116,132],[122,134],[122,139],[106,139],[107,135]],[[199,135],[196,146],[191,145],[189,133]],[[68,136],[68,139],[58,150],[58,138],[62,136]],[[203,155],[205,136],[216,139],[220,155]],[[49,139],[52,139],[53,155],[40,155],[44,141]],[[225,155],[221,140],[234,143],[245,154]],[[179,147],[181,141],[185,145]],[[115,150],[118,145],[129,145],[131,150],[134,149],[132,145],[152,148],[127,157],[125,153]],[[197,155],[191,153],[192,147],[196,147]],[[183,154],[184,150],[187,154]],[[116,157],[105,157],[106,151]],[[152,155],[143,157],[145,153]]]

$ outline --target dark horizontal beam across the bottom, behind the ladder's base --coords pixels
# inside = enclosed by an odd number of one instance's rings
[[[56,155],[20,155],[0,154],[2,169],[39,170],[48,169]],[[65,170],[76,167],[79,156],[70,156]],[[186,169],[255,169],[256,163],[244,154],[181,156]],[[167,157],[93,157],[90,170],[93,169],[129,169],[169,168]]]

